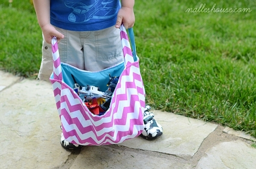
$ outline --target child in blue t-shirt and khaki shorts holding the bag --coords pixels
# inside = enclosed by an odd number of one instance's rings
[[[40,80],[49,81],[52,73],[52,37],[57,37],[61,62],[81,70],[99,71],[123,61],[119,27],[134,26],[134,0],[33,0],[39,26],[43,32]],[[145,109],[144,138],[162,135],[150,107]],[[155,130],[155,135],[150,131]],[[64,140],[67,149],[80,148]]]

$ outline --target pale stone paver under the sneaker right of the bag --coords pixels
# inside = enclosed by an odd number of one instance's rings
[[[163,126],[164,134],[150,141],[137,137],[123,142],[122,146],[163,152],[189,159],[204,141],[216,129],[217,125],[174,113],[154,111],[155,119]]]

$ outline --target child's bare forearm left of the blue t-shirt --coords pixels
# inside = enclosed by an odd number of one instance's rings
[[[33,0],[38,24],[41,28],[50,23],[50,0]]]

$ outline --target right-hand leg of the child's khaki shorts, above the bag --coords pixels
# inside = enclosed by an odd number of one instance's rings
[[[120,30],[114,26],[81,32],[85,70],[100,71],[123,62]]]

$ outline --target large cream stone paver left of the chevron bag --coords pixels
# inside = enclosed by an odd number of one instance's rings
[[[23,80],[0,92],[0,169],[52,169],[70,152],[48,82]]]

